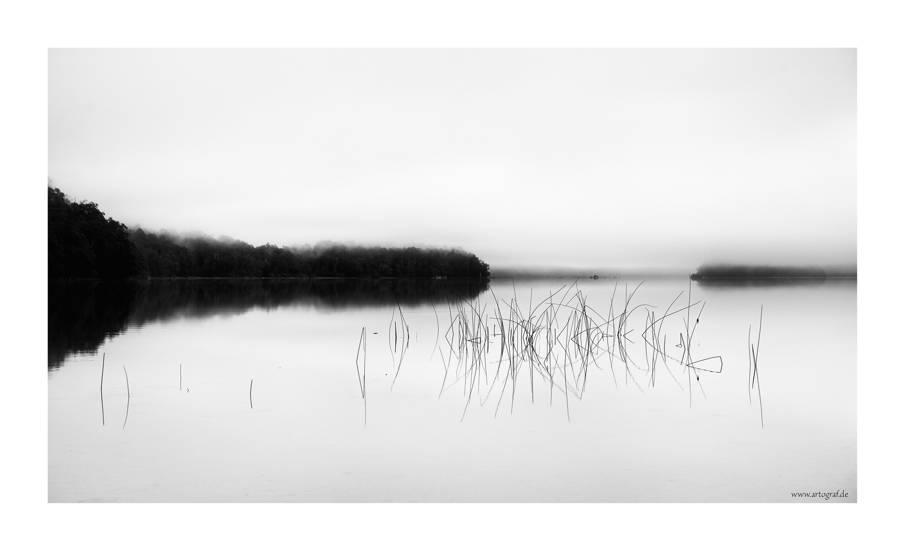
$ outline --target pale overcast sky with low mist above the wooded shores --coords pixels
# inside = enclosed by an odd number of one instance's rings
[[[855,105],[854,50],[51,50],[48,176],[253,245],[853,264]]]

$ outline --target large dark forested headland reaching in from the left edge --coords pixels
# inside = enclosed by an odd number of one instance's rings
[[[237,240],[129,229],[98,205],[47,187],[51,280],[147,278],[488,278],[471,252],[328,243],[254,247]]]

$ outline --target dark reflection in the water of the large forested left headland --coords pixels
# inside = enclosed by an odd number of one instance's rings
[[[52,281],[47,293],[48,369],[71,354],[94,353],[128,328],[175,317],[243,314],[253,308],[418,306],[444,302],[447,290],[473,299],[489,280],[274,279]],[[452,298],[452,293],[449,294]]]

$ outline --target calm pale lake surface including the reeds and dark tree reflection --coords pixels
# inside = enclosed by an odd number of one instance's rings
[[[853,281],[193,280],[49,298],[50,501],[857,499]]]

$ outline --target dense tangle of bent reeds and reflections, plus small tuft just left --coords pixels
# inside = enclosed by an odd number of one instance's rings
[[[649,304],[633,305],[638,287],[629,292],[625,286],[624,297],[620,301],[616,286],[605,312],[598,312],[588,305],[586,294],[577,289],[577,280],[537,301],[533,292],[529,293],[527,308],[519,303],[514,286],[512,299],[508,302],[500,301],[492,287],[492,301],[487,303],[482,302],[481,297],[470,300],[448,291],[448,325],[444,320],[446,330],[442,342],[440,315],[434,306],[437,337],[433,353],[439,352],[444,369],[440,394],[462,384],[465,398],[462,418],[472,400],[483,405],[491,397],[496,398],[497,413],[504,398],[510,398],[511,413],[515,405],[516,386],[527,383],[532,402],[540,388],[547,389],[544,394],[548,394],[550,404],[555,394],[562,394],[568,415],[570,395],[571,399],[580,400],[583,397],[587,375],[592,369],[609,371],[616,385],[618,378],[624,378],[625,385],[631,381],[643,390],[642,384],[652,387],[656,384],[657,371],[663,367],[672,380],[685,390],[670,368],[672,363],[673,368],[681,368],[682,374],[688,376],[691,405],[692,375],[703,393],[700,372],[721,373],[723,367],[721,356],[696,359],[691,354],[691,344],[704,305],[701,304],[700,309],[695,308],[700,302],[691,302],[690,286],[685,305],[674,309],[684,294],[682,291],[666,310],[658,313]],[[394,310],[388,336],[396,366],[394,384],[409,344],[408,325],[405,324],[401,307],[397,306],[397,310],[400,319],[398,322],[395,320]],[[644,313],[644,325],[639,339],[632,335],[636,328],[630,326],[641,318],[641,313]],[[693,318],[692,313],[695,314]],[[681,348],[681,353],[670,353],[664,324],[667,318],[680,314],[684,327],[679,332],[675,347]],[[638,361],[636,358],[642,344],[643,360]],[[617,377],[617,373],[624,377]]]

